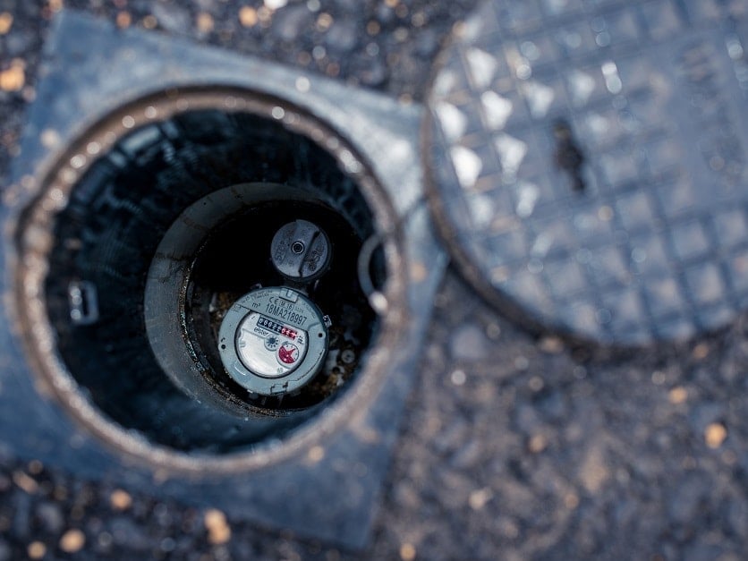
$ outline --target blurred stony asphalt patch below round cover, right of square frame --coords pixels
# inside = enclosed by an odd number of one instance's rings
[[[742,557],[748,399],[723,373],[744,361],[744,320],[611,354],[533,340],[452,274],[438,302],[374,557]]]

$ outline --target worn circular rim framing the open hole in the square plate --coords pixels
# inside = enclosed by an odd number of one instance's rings
[[[383,293],[389,303],[387,313],[379,316],[379,328],[367,351],[366,364],[352,387],[336,403],[328,406],[324,414],[318,414],[282,441],[268,439],[247,452],[223,456],[184,453],[158,445],[120,427],[90,402],[56,351],[54,329],[47,317],[43,290],[47,253],[52,246],[50,230],[55,215],[65,207],[70,191],[96,159],[85,156],[91,141],[98,142],[99,154],[106,154],[129,132],[174,115],[218,109],[227,113],[251,113],[272,120],[276,119],[273,109],[278,107],[283,109],[284,126],[315,141],[335,157],[344,173],[358,185],[369,205],[375,224],[383,233],[387,264],[387,283]],[[276,111],[276,115],[278,113]],[[408,281],[407,268],[404,267],[404,241],[391,194],[374,176],[374,166],[361,156],[360,150],[353,148],[336,132],[336,127],[292,102],[254,89],[234,84],[183,84],[150,91],[117,106],[106,115],[98,115],[88,126],[82,126],[64,149],[50,154],[38,169],[40,179],[34,190],[21,193],[8,209],[13,228],[13,244],[6,254],[13,284],[8,312],[20,326],[16,336],[40,391],[54,396],[77,424],[106,447],[145,461],[153,469],[169,472],[218,474],[261,469],[297,455],[344,429],[366,411],[366,404],[376,399],[387,378],[377,374],[388,371],[391,353],[400,348],[410,325],[410,317],[405,311]]]

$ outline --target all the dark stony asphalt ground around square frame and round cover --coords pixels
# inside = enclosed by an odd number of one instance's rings
[[[420,100],[474,3],[284,4],[65,6]],[[0,0],[0,177],[61,7]],[[450,269],[369,550],[79,480],[0,446],[0,559],[742,559],[746,328],[743,317],[630,352],[570,346],[515,327]]]

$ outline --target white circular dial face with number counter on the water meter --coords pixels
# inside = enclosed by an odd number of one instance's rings
[[[244,366],[266,378],[280,378],[296,368],[307,352],[307,332],[252,311],[236,333],[236,353]]]

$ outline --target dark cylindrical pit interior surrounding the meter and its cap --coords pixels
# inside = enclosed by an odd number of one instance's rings
[[[123,429],[182,452],[251,450],[355,382],[380,324],[358,270],[374,212],[335,150],[300,130],[223,108],[154,119],[94,158],[53,218],[44,290],[57,353]],[[297,220],[331,248],[309,283],[271,259],[274,235]],[[383,289],[385,251],[367,274]],[[283,286],[329,318],[328,350],[302,387],[260,395],[227,374],[218,331],[243,295]]]

